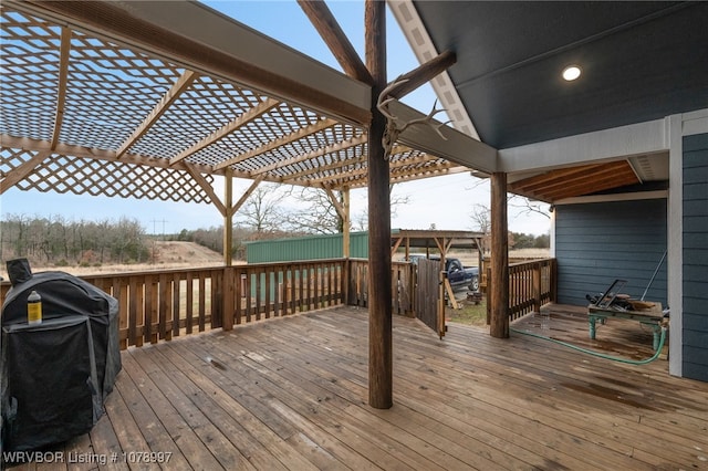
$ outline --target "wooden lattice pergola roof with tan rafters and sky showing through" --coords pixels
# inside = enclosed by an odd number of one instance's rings
[[[1,191],[214,202],[219,175],[367,185],[363,123],[43,13],[41,2],[1,9]],[[392,182],[468,170],[402,143],[389,161]]]

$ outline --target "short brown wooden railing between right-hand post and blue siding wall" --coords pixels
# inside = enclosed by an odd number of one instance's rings
[[[487,279],[491,280],[491,268]],[[543,304],[555,301],[555,259],[532,260],[509,265],[509,320],[540,312]],[[489,293],[489,283],[488,291]],[[490,318],[487,303],[487,320]]]

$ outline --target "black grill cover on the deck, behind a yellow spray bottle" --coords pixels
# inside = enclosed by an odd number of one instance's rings
[[[27,323],[27,297],[42,296],[42,323]],[[86,433],[121,370],[118,302],[64,272],[14,284],[2,314],[0,449],[31,451]]]

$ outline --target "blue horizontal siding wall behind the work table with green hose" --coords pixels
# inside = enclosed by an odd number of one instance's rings
[[[615,279],[639,299],[666,250],[666,200],[598,202],[555,207],[558,302],[586,305]],[[667,300],[666,261],[646,300]]]

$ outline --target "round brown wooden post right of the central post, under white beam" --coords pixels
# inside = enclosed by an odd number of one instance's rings
[[[507,221],[507,174],[491,175],[491,303],[489,334],[509,337],[509,234]]]

